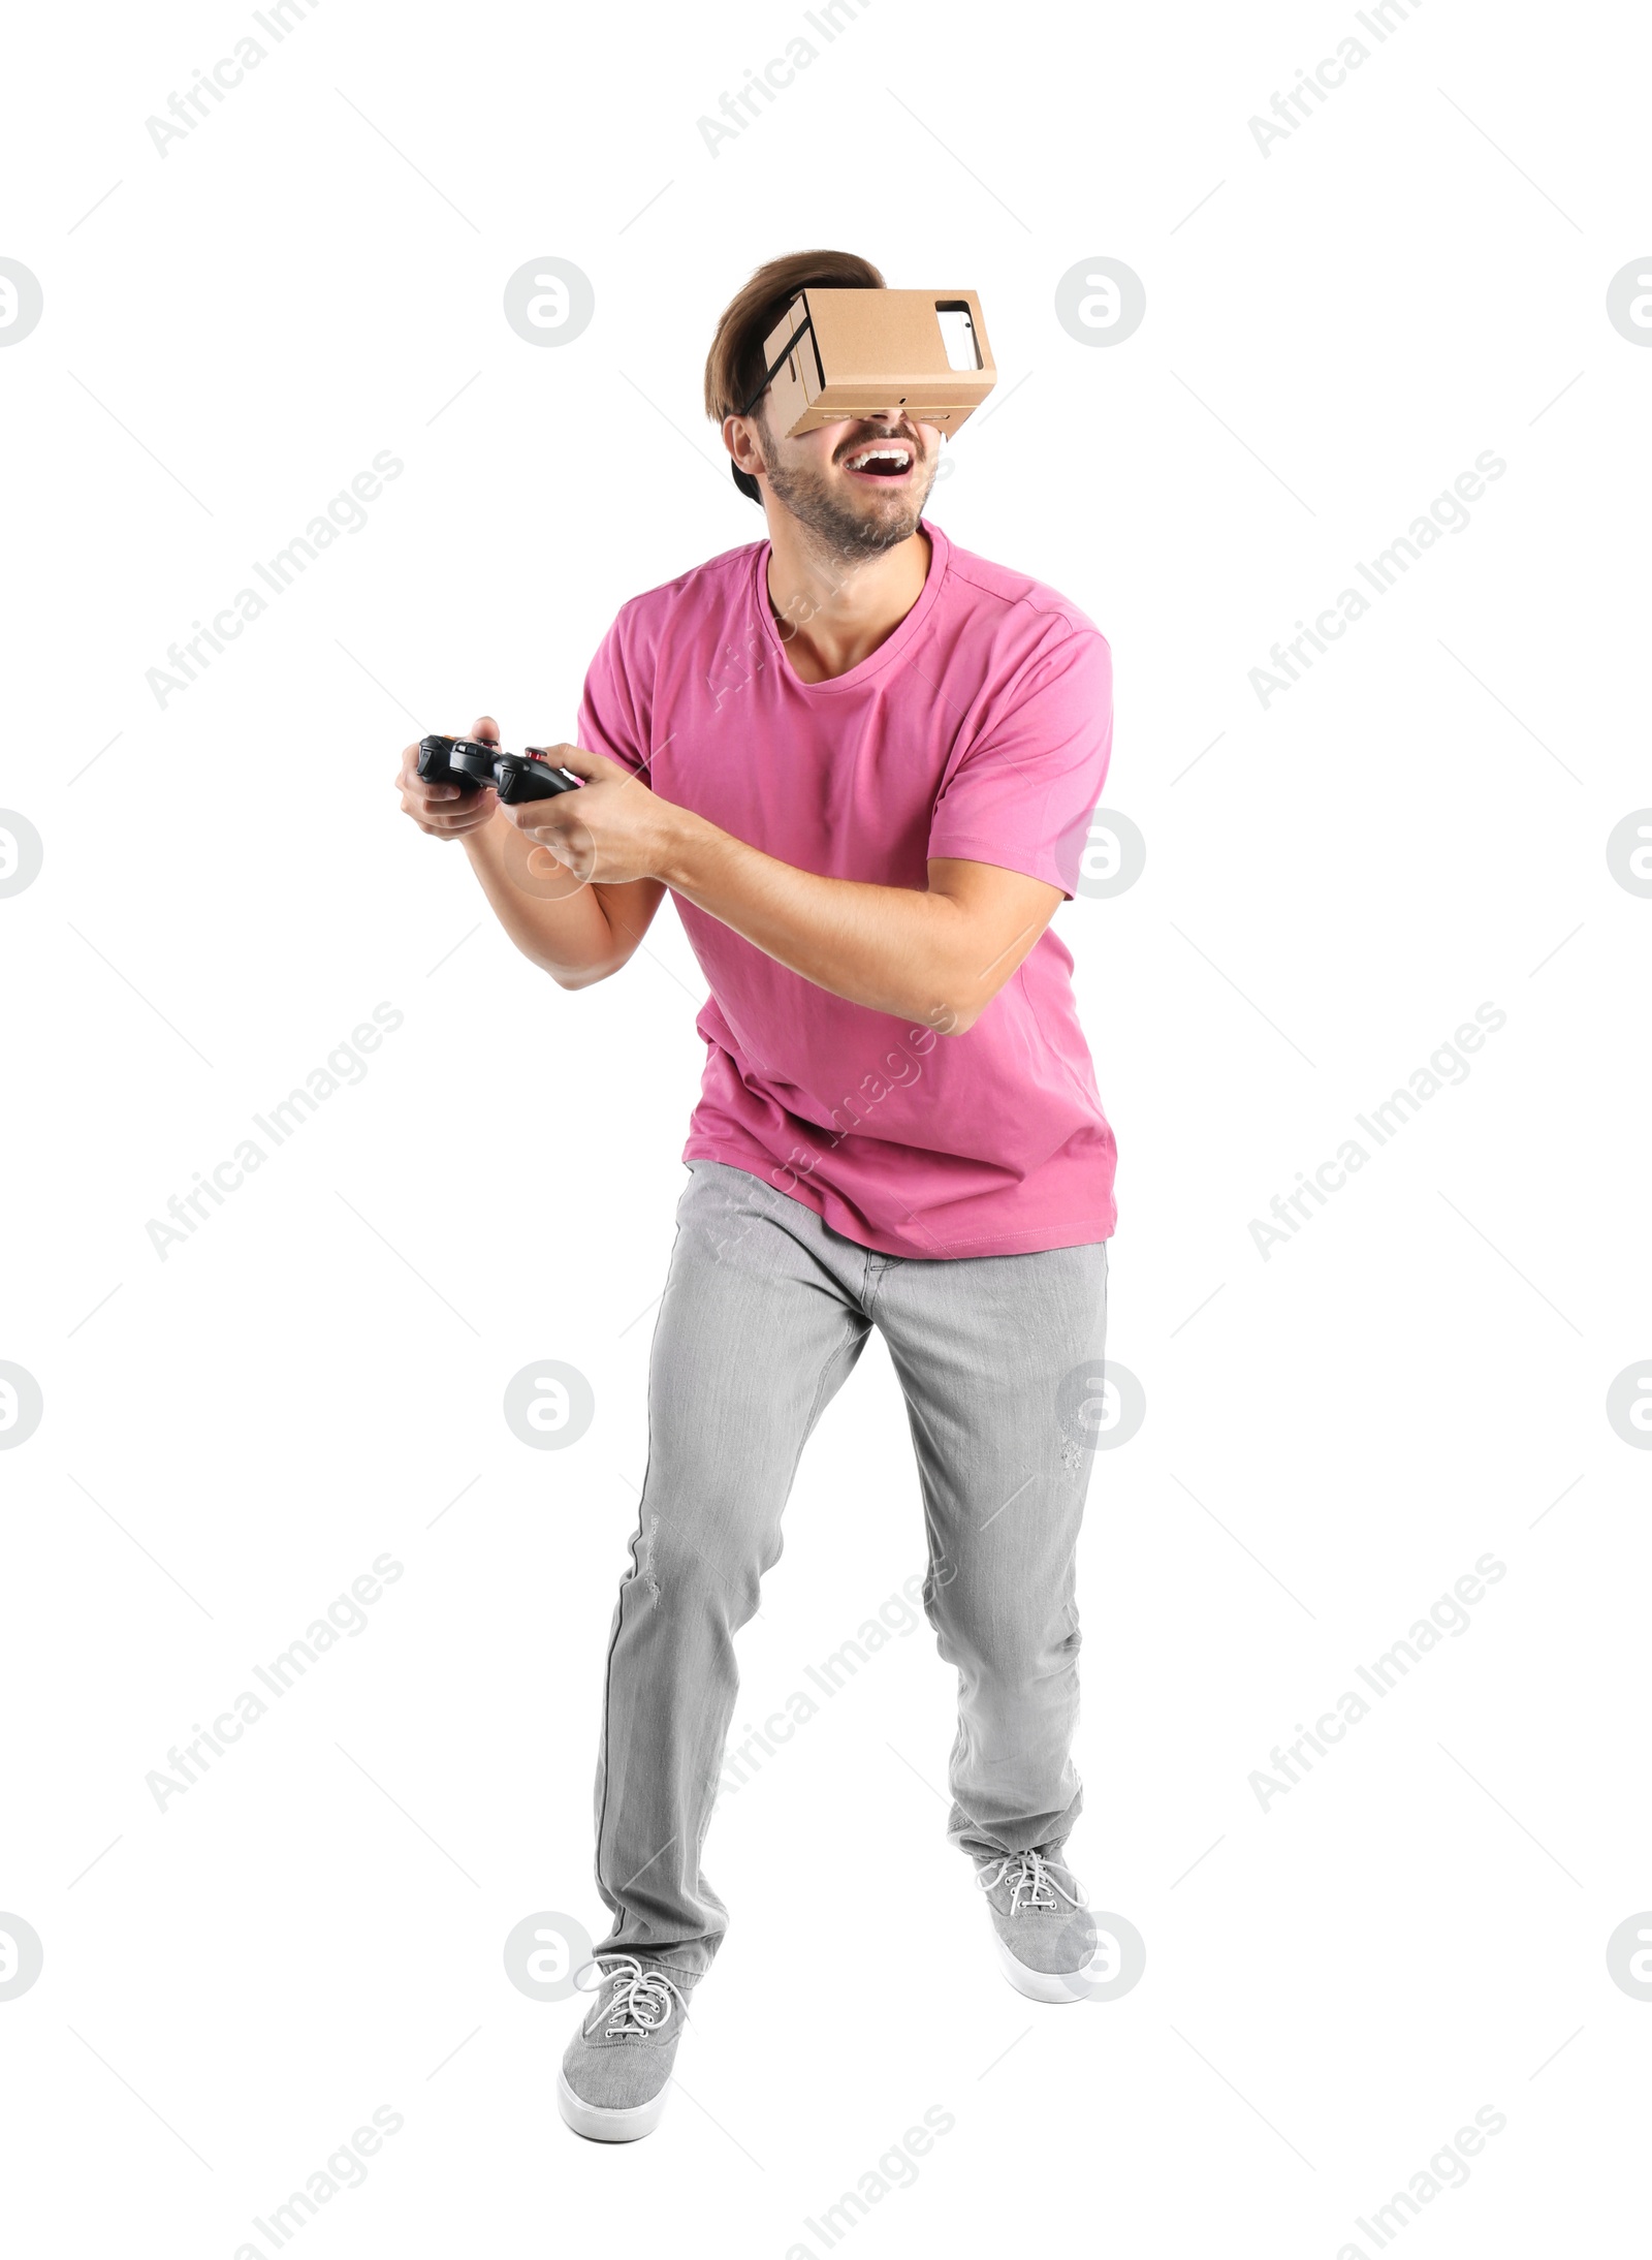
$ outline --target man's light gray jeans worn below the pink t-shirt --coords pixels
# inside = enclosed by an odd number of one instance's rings
[[[698,1977],[728,1928],[701,1871],[739,1675],[802,1446],[872,1327],[906,1397],[924,1611],[958,1670],[954,1844],[1060,1846],[1080,1810],[1073,1550],[1107,1245],[908,1259],[746,1171],[694,1162],[649,1370],[649,1467],[597,1761],[603,1948]]]

